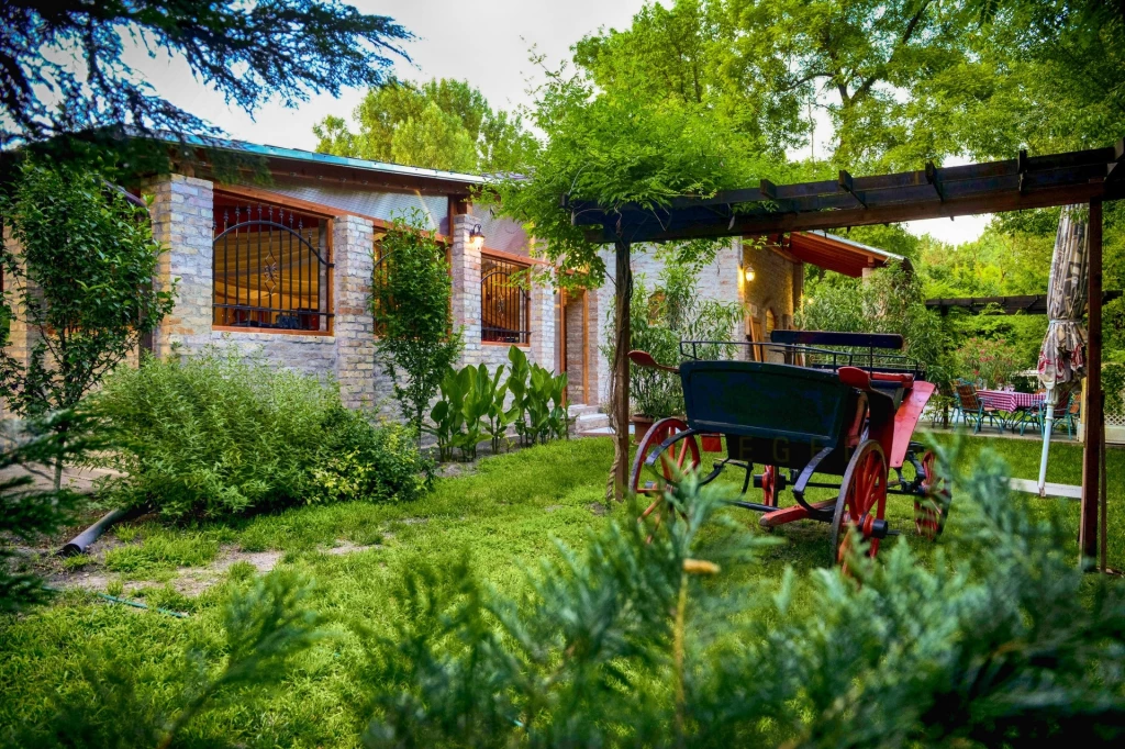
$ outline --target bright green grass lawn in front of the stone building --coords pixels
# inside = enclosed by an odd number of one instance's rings
[[[986,446],[999,450],[1014,475],[1034,477],[1037,442],[972,439],[963,460],[972,460]],[[1079,482],[1080,454],[1079,445],[1052,445],[1048,480]],[[467,551],[475,568],[495,586],[515,588],[539,558],[557,553],[552,540],[580,545],[591,526],[611,520],[632,522],[628,506],[606,511],[602,504],[611,458],[605,439],[560,442],[484,460],[475,472],[439,479],[428,496],[412,504],[349,503],[236,524],[117,529],[111,541],[119,545],[102,559],[90,560],[83,571],[105,577],[115,590],[124,584],[132,594],[143,586],[147,602],[190,616],[173,619],[71,593],[29,615],[0,619],[0,737],[10,727],[40,720],[53,696],[84,688],[76,676],[83,659],[104,648],[125,655],[147,698],[170,700],[183,671],[184,647],[218,647],[220,605],[228,586],[244,577],[248,567],[240,563],[217,572],[218,581],[197,596],[176,593],[172,578],[184,575],[183,568],[206,569],[233,551],[249,556],[273,551],[280,566],[317,581],[316,606],[330,617],[333,637],[299,658],[284,689],[259,704],[240,702],[206,713],[188,731],[187,743],[222,737],[246,747],[354,746],[353,706],[363,695],[356,694],[351,675],[362,652],[350,628],[386,626],[388,586],[400,570],[423,560],[451,562]],[[1125,500],[1125,451],[1110,451],[1108,473],[1109,563],[1120,569],[1125,517],[1115,509]],[[788,494],[783,502],[791,502]],[[892,525],[904,533],[888,542],[906,541],[922,549],[925,562],[930,544],[914,534],[910,500],[892,497],[889,505]],[[1036,513],[1059,513],[1077,529],[1078,503],[1036,499],[1032,506]],[[757,515],[730,512],[757,532]],[[955,498],[953,532],[956,522]],[[764,560],[738,570],[738,577],[780,577],[786,565],[803,570],[829,559],[824,525],[796,524],[775,535],[786,543],[768,549]]]

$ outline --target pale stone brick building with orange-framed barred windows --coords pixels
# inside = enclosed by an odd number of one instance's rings
[[[202,163],[196,175],[152,175],[141,188],[154,198],[154,233],[168,249],[156,283],[177,285],[174,310],[151,342],[155,354],[237,346],[333,378],[349,406],[394,413],[388,378],[375,363],[368,298],[379,237],[393,218],[410,215],[447,247],[461,364],[505,363],[518,345],[530,361],[567,372],[572,404],[608,400],[600,345],[612,279],[585,292],[521,288],[513,276],[542,261],[530,256],[520,225],[472,205],[484,178],[248,143],[226,147],[260,157],[268,184],[249,172],[220,180]],[[647,250],[634,249],[634,273],[655,279],[660,261]],[[736,238],[702,270],[699,294],[742,305],[745,327],[731,335],[760,341],[792,325],[804,262],[860,276],[893,258],[822,234]],[[14,324],[10,346],[26,352],[35,335]]]

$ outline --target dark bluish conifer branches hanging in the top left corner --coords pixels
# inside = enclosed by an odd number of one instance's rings
[[[126,62],[141,43],[187,60],[192,73],[243,109],[277,97],[379,85],[411,34],[339,0],[209,3],[34,0],[0,10],[0,146],[58,135],[215,135],[155,92]],[[74,66],[74,58],[78,61]]]

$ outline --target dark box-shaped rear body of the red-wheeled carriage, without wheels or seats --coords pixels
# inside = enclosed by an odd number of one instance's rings
[[[857,436],[861,394],[835,371],[753,361],[686,361],[680,366],[687,425],[726,436],[731,460],[843,476]],[[862,418],[862,416],[860,417]]]

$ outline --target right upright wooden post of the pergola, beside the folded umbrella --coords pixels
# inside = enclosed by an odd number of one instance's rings
[[[1098,551],[1098,486],[1101,479],[1101,200],[1090,201],[1089,234],[1089,340],[1086,346],[1086,446],[1082,451],[1082,517],[1078,545],[1092,562]]]

